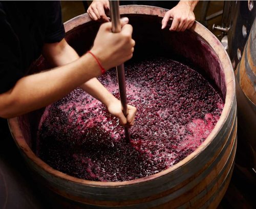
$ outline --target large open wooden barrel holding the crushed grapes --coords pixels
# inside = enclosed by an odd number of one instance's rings
[[[232,65],[220,41],[198,22],[183,33],[161,30],[165,12],[150,6],[120,8],[134,28],[134,59],[163,53],[177,60],[183,57],[190,66],[201,68],[225,102],[219,121],[202,145],[173,167],[131,181],[97,182],[56,171],[34,154],[36,131],[44,109],[10,119],[14,140],[35,179],[40,187],[60,196],[63,208],[216,208],[220,203],[231,178],[237,147]],[[88,14],[75,17],[65,24],[66,39],[82,54],[90,49],[99,25]],[[44,59],[40,58],[31,73],[45,67]]]

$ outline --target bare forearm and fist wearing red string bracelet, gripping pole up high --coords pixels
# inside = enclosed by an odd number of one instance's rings
[[[105,69],[132,57],[135,43],[131,38],[132,27],[126,23],[118,34],[111,32],[110,22],[99,29],[91,51]],[[0,117],[11,118],[44,107],[101,74],[97,62],[90,54],[70,61],[51,71],[23,77],[9,91],[0,94]]]

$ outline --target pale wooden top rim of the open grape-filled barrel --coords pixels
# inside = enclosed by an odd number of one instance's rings
[[[145,5],[126,5],[120,6],[120,14],[145,14],[145,15],[156,15],[159,17],[163,17],[165,12],[168,11],[163,8],[159,7],[152,7],[152,6],[145,6]],[[87,13],[81,14],[77,17],[74,17],[67,22],[65,22],[65,30],[66,33],[75,29],[76,27],[86,24],[87,22],[92,21]],[[222,72],[225,76],[225,84],[226,84],[226,97],[225,97],[225,104],[223,107],[222,114],[220,116],[219,121],[216,123],[214,129],[205,139],[205,141],[191,154],[185,157],[183,160],[179,161],[174,166],[165,169],[157,174],[134,179],[130,181],[119,181],[119,182],[101,182],[101,181],[91,181],[86,179],[79,179],[68,174],[62,173],[50,167],[46,162],[42,161],[39,157],[37,157],[34,152],[30,149],[22,131],[19,128],[18,117],[12,118],[8,120],[9,128],[11,134],[14,138],[15,143],[17,146],[24,152],[24,154],[34,162],[40,169],[43,169],[50,174],[54,175],[57,178],[65,179],[68,181],[72,181],[74,183],[85,184],[87,186],[92,187],[125,187],[131,184],[142,183],[148,180],[153,180],[159,178],[163,175],[166,175],[177,168],[181,167],[182,165],[187,164],[189,161],[194,159],[197,155],[201,153],[215,138],[217,133],[221,130],[223,125],[227,120],[227,116],[231,111],[231,107],[233,105],[234,99],[236,97],[235,94],[235,81],[234,81],[234,74],[231,61],[227,55],[226,50],[224,49],[221,42],[214,36],[208,29],[203,27],[199,22],[195,21],[194,25],[188,29],[190,32],[196,33],[204,42],[205,44],[209,45],[209,47],[213,50],[213,52],[217,55],[219,64],[221,66]]]

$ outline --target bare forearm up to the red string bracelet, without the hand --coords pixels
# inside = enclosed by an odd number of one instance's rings
[[[23,77],[12,89],[0,95],[0,115],[11,118],[47,106],[100,74],[97,63],[90,55],[84,55],[51,71]]]

